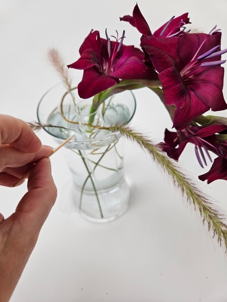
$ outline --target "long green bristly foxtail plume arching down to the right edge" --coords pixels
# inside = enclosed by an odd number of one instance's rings
[[[109,130],[120,131],[124,137],[137,143],[152,157],[161,170],[171,178],[187,201],[194,206],[195,210],[199,211],[203,224],[207,222],[208,231],[213,232],[213,238],[217,238],[218,244],[224,246],[226,252],[227,225],[224,221],[225,217],[211,203],[211,198],[207,195],[205,196],[197,185],[182,172],[182,168],[178,167],[172,159],[165,156],[148,137],[126,126],[110,127]]]

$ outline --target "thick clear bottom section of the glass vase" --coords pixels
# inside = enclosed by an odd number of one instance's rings
[[[74,204],[79,213],[87,220],[103,223],[115,220],[123,215],[131,197],[131,188],[126,179],[107,190],[97,191],[99,202],[93,191],[84,191],[80,203],[81,190],[74,189]]]

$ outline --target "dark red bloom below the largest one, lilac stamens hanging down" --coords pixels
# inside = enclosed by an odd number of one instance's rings
[[[225,129],[227,129],[226,125],[211,125],[208,127],[187,126],[185,129],[177,132],[165,129],[164,143],[159,143],[159,146],[167,153],[168,157],[178,161],[186,144],[191,142],[195,145],[197,160],[203,168],[203,163],[207,165],[204,152],[210,161],[211,158],[208,150],[216,155],[222,154],[222,147],[217,143],[215,133]],[[179,147],[177,148],[178,145]]]

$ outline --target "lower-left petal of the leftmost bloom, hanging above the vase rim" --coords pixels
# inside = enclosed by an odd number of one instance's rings
[[[78,85],[78,94],[82,99],[88,99],[119,82],[118,79],[102,75],[96,67],[92,66],[84,70],[83,79]]]

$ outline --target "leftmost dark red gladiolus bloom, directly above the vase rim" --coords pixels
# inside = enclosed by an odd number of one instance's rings
[[[91,31],[80,47],[81,57],[69,68],[84,69],[83,79],[78,85],[81,98],[90,98],[121,80],[157,80],[157,73],[143,62],[143,52],[134,46],[123,45],[122,37],[110,41]]]

